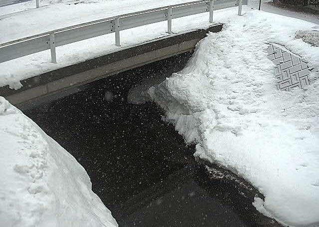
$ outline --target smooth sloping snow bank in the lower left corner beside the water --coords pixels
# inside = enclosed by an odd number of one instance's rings
[[[84,168],[0,97],[3,227],[117,227]]]

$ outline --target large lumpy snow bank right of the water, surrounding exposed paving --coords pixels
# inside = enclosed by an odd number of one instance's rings
[[[290,227],[319,227],[319,77],[293,92],[276,88],[270,43],[319,65],[319,47],[294,39],[313,23],[262,11],[228,14],[188,65],[148,95],[166,110],[195,157],[245,178],[264,196],[254,206]]]

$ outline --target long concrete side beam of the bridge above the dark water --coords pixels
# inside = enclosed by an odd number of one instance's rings
[[[162,60],[174,55],[193,51],[196,43],[206,33],[219,32],[222,24],[212,25],[185,33],[172,34],[147,43],[120,49],[78,64],[66,66],[53,71],[20,81],[22,88],[12,90],[8,86],[0,88],[0,96],[12,104],[36,101],[37,98],[54,95],[69,90],[76,92],[80,85],[90,83],[135,67]]]

